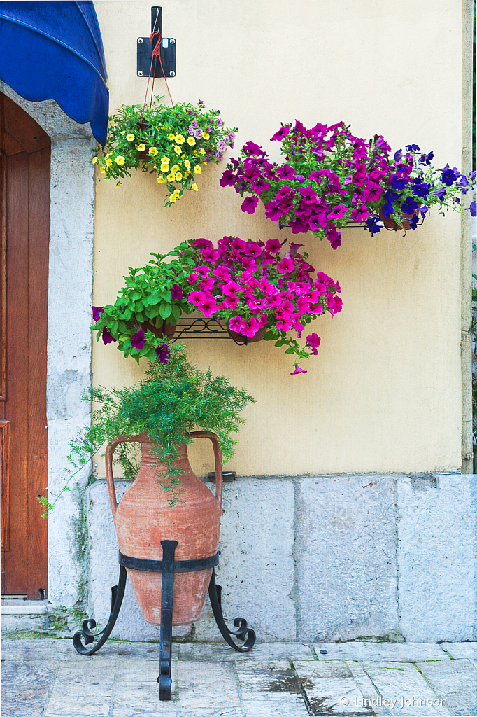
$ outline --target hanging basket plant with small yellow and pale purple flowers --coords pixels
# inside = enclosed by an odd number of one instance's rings
[[[218,163],[228,147],[233,147],[236,128],[224,126],[218,110],[178,104],[166,107],[160,97],[150,107],[122,105],[110,117],[105,148],[96,148],[93,163],[100,166],[105,179],[117,179],[117,186],[130,169],[142,167],[166,184],[165,206],[174,204],[185,190],[198,191],[196,179],[201,164]]]

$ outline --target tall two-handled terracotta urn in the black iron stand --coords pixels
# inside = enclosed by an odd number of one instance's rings
[[[168,506],[168,493],[156,482],[165,467],[156,465],[147,435],[122,436],[106,450],[106,478],[117,542],[123,555],[146,560],[162,560],[161,540],[176,540],[175,560],[208,558],[218,550],[221,526],[222,464],[218,439],[213,433],[196,431],[192,437],[208,438],[213,443],[216,463],[216,495],[199,480],[191,469],[186,444],[180,446],[176,466],[180,468],[180,496],[183,503]],[[120,442],[140,442],[141,467],[133,485],[127,488],[120,503],[116,501],[112,477],[112,455]],[[160,592],[162,574],[127,568],[141,612],[147,622],[160,625]],[[174,575],[173,625],[196,622],[202,613],[212,569]]]

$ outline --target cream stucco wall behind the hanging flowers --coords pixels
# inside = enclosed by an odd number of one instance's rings
[[[110,113],[143,101],[136,38],[150,32],[150,2],[96,1],[105,45]],[[177,40],[175,101],[219,108],[242,144],[262,144],[280,122],[339,120],[358,136],[385,136],[393,150],[418,143],[435,165],[461,161],[461,2],[453,0],[164,0],[163,34]],[[161,95],[163,80],[156,80]],[[128,266],[193,237],[292,238],[208,166],[200,191],[163,206],[164,189],[137,174],[123,189],[97,181],[95,305],[113,303]],[[302,237],[305,237],[304,239]],[[297,241],[297,237],[293,237]],[[451,471],[461,466],[460,239],[458,214],[437,212],[416,232],[345,229],[333,251],[304,241],[317,270],[339,280],[342,313],[314,324],[319,356],[290,376],[272,342],[186,341],[198,366],[246,386],[236,457],[239,475]],[[143,374],[114,346],[94,342],[93,383],[130,384]],[[213,470],[192,450],[199,475]],[[101,472],[101,471],[100,471]]]

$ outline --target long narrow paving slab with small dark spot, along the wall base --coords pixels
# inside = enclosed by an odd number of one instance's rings
[[[440,645],[423,642],[318,642],[313,647],[319,660],[421,662],[449,659]],[[327,654],[323,655],[322,650],[326,650]]]

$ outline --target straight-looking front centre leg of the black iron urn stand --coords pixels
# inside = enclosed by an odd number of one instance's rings
[[[172,619],[174,599],[174,553],[176,540],[161,540],[163,546],[163,579],[160,588],[160,654],[159,699],[170,700],[170,657],[172,642]]]

